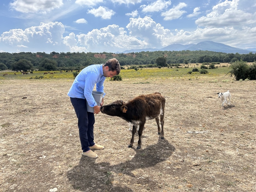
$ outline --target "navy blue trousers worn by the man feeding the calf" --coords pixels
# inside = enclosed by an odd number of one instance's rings
[[[95,123],[94,114],[87,112],[86,100],[70,97],[70,101],[78,119],[79,137],[83,152],[89,151],[89,146],[93,146],[93,125]]]

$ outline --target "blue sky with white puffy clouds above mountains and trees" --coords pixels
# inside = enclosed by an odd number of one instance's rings
[[[117,52],[214,41],[256,48],[256,0],[2,0],[0,52]]]

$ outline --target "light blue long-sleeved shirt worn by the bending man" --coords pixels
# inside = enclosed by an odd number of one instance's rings
[[[92,96],[92,91],[96,83],[96,91],[104,93],[103,82],[106,78],[103,76],[102,66],[103,64],[90,65],[81,70],[69,89],[68,96],[86,99],[91,107],[96,106],[97,103]],[[103,97],[105,94],[103,94]]]

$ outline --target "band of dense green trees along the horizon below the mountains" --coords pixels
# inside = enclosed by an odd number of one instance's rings
[[[0,70],[80,70],[88,65],[105,63],[110,58],[118,59],[121,66],[150,65],[168,66],[174,64],[211,62],[254,62],[256,53],[233,54],[214,51],[142,51],[128,54],[111,52],[0,52]]]

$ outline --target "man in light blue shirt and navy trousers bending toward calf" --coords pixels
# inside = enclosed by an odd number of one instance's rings
[[[71,88],[68,91],[68,96],[74,107],[78,118],[78,129],[82,155],[97,158],[98,155],[91,151],[91,149],[101,150],[104,146],[94,143],[93,125],[95,122],[94,114],[100,112],[100,106],[95,102],[92,91],[96,84],[96,91],[104,92],[103,82],[106,77],[113,77],[120,73],[120,64],[117,59],[109,59],[105,64],[90,65],[84,68],[75,78]],[[104,102],[103,94],[102,102]],[[94,108],[94,113],[87,112],[86,101]]]

